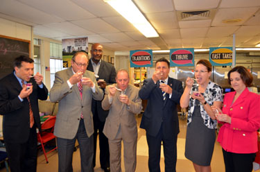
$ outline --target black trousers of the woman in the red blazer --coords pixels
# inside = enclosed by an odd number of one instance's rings
[[[226,172],[251,172],[255,153],[230,153],[222,149]]]

